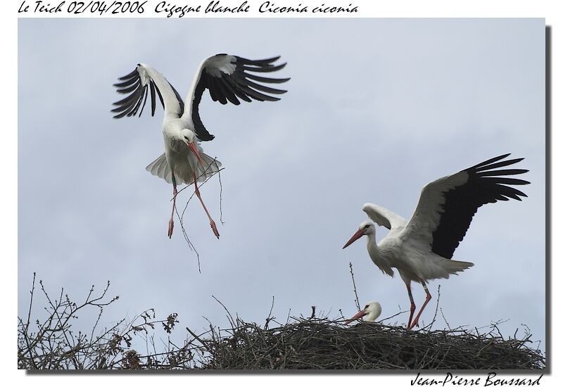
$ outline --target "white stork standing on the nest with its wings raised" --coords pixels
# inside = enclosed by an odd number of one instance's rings
[[[362,222],[360,229],[343,248],[366,235],[369,257],[381,272],[393,277],[392,267],[398,269],[410,298],[408,329],[418,326],[419,317],[431,299],[426,288],[429,279],[448,278],[450,274],[473,266],[472,262],[452,260],[452,256],[477,209],[483,204],[508,201],[510,198],[521,201],[520,196],[526,196],[510,185],[529,182],[505,176],[519,175],[528,170],[497,169],[523,160],[514,158],[500,161],[509,155],[491,158],[426,184],[415,213],[408,222],[379,205],[367,203],[362,208],[371,220],[391,231],[378,245],[374,223]],[[412,315],[416,306],[410,291],[411,281],[422,284],[426,292],[426,300],[414,320]]]

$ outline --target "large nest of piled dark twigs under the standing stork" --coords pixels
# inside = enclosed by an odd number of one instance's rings
[[[329,319],[295,319],[275,328],[236,320],[212,329],[192,345],[203,369],[543,369],[540,350],[522,339],[502,338],[495,325],[486,334],[464,329],[410,331],[402,326]],[[220,337],[220,332],[227,333]],[[496,333],[498,332],[498,334]],[[206,335],[208,336],[208,335]],[[194,349],[193,347],[191,349]]]

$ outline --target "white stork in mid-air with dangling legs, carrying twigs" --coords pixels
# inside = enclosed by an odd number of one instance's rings
[[[156,94],[164,108],[162,130],[164,135],[163,153],[146,167],[151,174],[161,177],[173,186],[172,215],[168,222],[168,237],[172,237],[174,229],[174,210],[176,207],[177,184],[191,184],[194,182],[196,196],[203,210],[209,217],[213,233],[219,238],[215,222],[211,218],[205,204],[201,200],[198,181],[219,170],[221,163],[203,153],[198,141],[210,141],[215,136],[210,134],[199,116],[199,103],[205,89],[213,101],[223,105],[227,101],[239,105],[239,99],[251,102],[278,101],[279,98],[270,94],[283,94],[286,90],[267,87],[263,83],[283,83],[289,78],[261,77],[253,72],[274,72],[284,68],[286,63],[274,65],[279,56],[274,58],[251,61],[239,56],[220,53],[210,56],[199,65],[196,76],[191,84],[186,99],[182,101],[178,92],[166,78],[149,65],[139,63],[129,74],[120,77],[120,82],[113,86],[118,93],[128,94],[124,99],[113,103],[117,106],[111,110],[113,118],[131,117],[143,113],[143,109],[151,93],[151,115],[156,108]],[[199,165],[198,165],[199,164]]]

